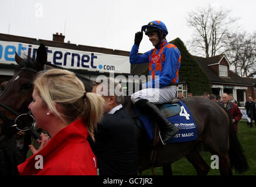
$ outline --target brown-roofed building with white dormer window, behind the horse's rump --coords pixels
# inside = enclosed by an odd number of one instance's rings
[[[248,96],[255,98],[255,79],[253,84],[252,79],[242,78],[230,71],[230,63],[224,54],[210,58],[193,57],[209,77],[211,91],[215,95],[233,93],[234,99],[240,102],[241,106],[244,106]]]

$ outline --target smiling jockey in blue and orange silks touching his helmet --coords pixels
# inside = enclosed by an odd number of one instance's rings
[[[139,55],[138,49],[143,37],[143,31],[149,37],[155,49]],[[135,33],[129,60],[131,64],[149,63],[151,81],[146,82],[141,91],[131,95],[135,106],[158,124],[161,131],[162,144],[166,144],[176,133],[178,128],[170,123],[155,106],[168,103],[175,98],[176,85],[179,82],[180,51],[165,39],[168,30],[161,21],[152,21],[142,26],[141,32]],[[153,97],[152,97],[153,95]]]

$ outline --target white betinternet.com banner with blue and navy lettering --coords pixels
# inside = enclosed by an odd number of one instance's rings
[[[15,64],[15,51],[19,56],[35,58],[39,46],[11,41],[0,41],[0,63]],[[67,69],[116,73],[130,73],[129,57],[46,47],[48,63]],[[12,63],[13,62],[13,63]]]

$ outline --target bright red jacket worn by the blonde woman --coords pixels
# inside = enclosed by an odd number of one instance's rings
[[[81,119],[69,124],[42,150],[18,165],[19,175],[97,175],[96,158],[87,134]],[[40,160],[35,159],[36,155],[42,155],[43,169],[36,169]]]

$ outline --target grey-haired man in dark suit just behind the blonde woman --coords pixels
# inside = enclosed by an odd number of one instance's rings
[[[111,85],[114,85],[111,89]],[[105,90],[104,90],[105,89]],[[104,116],[95,131],[95,143],[89,141],[97,158],[100,175],[135,175],[138,146],[132,118],[122,106],[122,87],[114,79],[95,85],[94,93],[105,99]]]

